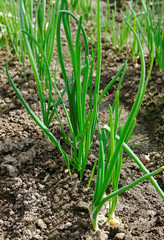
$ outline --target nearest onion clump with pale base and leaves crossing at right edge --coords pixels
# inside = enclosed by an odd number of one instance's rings
[[[125,21],[127,22],[126,19]],[[141,106],[141,102],[142,102],[142,99],[146,90],[146,86],[148,83],[148,79],[150,77],[150,73],[153,66],[153,55],[152,55],[150,69],[145,81],[145,61],[144,61],[142,45],[134,29],[130,26],[128,22],[127,24],[133,31],[137,39],[138,45],[140,47],[141,78],[140,78],[140,84],[139,84],[138,93],[137,93],[135,102],[132,106],[132,109],[129,113],[126,123],[120,126],[119,136],[118,136],[118,126],[119,126],[119,119],[121,115],[121,110],[119,110],[119,91],[117,91],[116,93],[113,107],[109,105],[109,113],[110,113],[109,125],[105,125],[101,130],[100,124],[97,118],[98,132],[100,137],[100,148],[99,148],[99,160],[98,160],[95,192],[94,192],[93,201],[91,205],[92,224],[95,230],[98,229],[98,214],[102,206],[107,201],[109,201],[108,220],[106,222],[108,223],[111,220],[111,218],[114,217],[118,194],[125,192],[131,187],[134,187],[136,184],[138,184],[144,179],[148,178],[151,181],[151,183],[154,185],[158,193],[161,195],[161,197],[164,199],[163,191],[160,189],[159,185],[152,177],[153,175],[163,171],[164,167],[152,173],[149,173],[149,171],[146,169],[143,163],[138,159],[135,153],[127,145],[127,142],[131,137],[131,134],[133,133],[133,130],[135,127],[136,116]],[[115,119],[113,117],[113,114],[115,116]],[[118,189],[120,171],[121,171],[123,162],[125,160],[123,158],[123,151],[125,151],[134,160],[134,162],[138,165],[140,170],[146,175],[122,187],[121,189]],[[103,198],[108,186],[110,187],[110,194]]]

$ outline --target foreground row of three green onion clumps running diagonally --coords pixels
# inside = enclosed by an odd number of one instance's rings
[[[115,208],[117,205],[117,196],[125,192],[129,188],[135,186],[144,179],[149,179],[156,188],[162,198],[164,193],[160,189],[158,183],[153,176],[164,167],[150,173],[142,164],[135,153],[127,145],[133,130],[135,128],[136,117],[141,106],[141,102],[146,90],[148,79],[153,66],[154,51],[152,51],[152,60],[148,76],[145,80],[145,61],[142,50],[142,44],[137,33],[131,27],[128,20],[125,22],[134,34],[134,38],[139,46],[141,58],[141,78],[138,87],[137,97],[133,107],[129,113],[127,121],[119,127],[119,119],[121,110],[119,107],[119,91],[121,83],[126,71],[127,62],[125,62],[116,76],[108,83],[106,88],[99,93],[100,74],[101,74],[101,10],[100,0],[97,0],[97,47],[92,51],[92,56],[89,55],[89,44],[86,32],[82,24],[82,17],[79,19],[68,10],[66,0],[56,0],[55,3],[46,6],[46,1],[37,1],[35,5],[31,0],[27,5],[24,0],[20,0],[20,32],[24,43],[24,55],[28,56],[34,73],[35,82],[38,90],[39,101],[42,111],[42,119],[39,119],[35,112],[30,108],[28,103],[21,95],[19,89],[14,84],[10,77],[8,66],[6,64],[6,72],[8,79],[22,102],[23,106],[43,130],[46,139],[51,140],[59,149],[66,166],[71,175],[72,169],[80,173],[80,179],[83,179],[88,154],[92,144],[95,129],[97,127],[100,138],[99,159],[96,170],[96,184],[93,201],[91,204],[92,224],[95,230],[98,229],[98,214],[101,207],[109,201],[108,222],[114,217]],[[46,10],[48,9],[48,12]],[[72,38],[70,21],[77,24],[75,43]],[[70,52],[70,63],[72,64],[71,76],[66,71],[64,61],[64,51],[61,43],[61,24],[63,24],[65,41],[67,42]],[[56,40],[56,49],[62,76],[64,79],[64,88],[59,91],[57,85],[53,81],[50,66],[54,52]],[[84,45],[84,51],[82,46]],[[93,81],[93,68],[96,64],[96,79]],[[101,126],[99,120],[99,104],[109,88],[119,79],[116,96],[113,101],[113,106],[109,105],[109,124]],[[54,92],[56,96],[54,97]],[[46,98],[48,94],[48,99]],[[64,95],[67,98],[64,98]],[[87,96],[89,101],[87,102]],[[65,100],[68,99],[68,100]],[[68,108],[66,107],[68,103]],[[89,105],[89,108],[87,106]],[[63,109],[63,115],[66,116],[69,134],[64,130],[59,111]],[[49,129],[50,123],[56,118],[59,121],[64,139],[70,146],[70,153],[64,150],[57,138]],[[126,152],[132,160],[139,166],[140,170],[145,174],[143,177],[135,180],[132,183],[118,189],[120,171],[125,161],[123,152]],[[94,169],[95,170],[95,165]],[[93,172],[92,171],[92,172]],[[104,197],[107,187],[110,186],[110,194]]]

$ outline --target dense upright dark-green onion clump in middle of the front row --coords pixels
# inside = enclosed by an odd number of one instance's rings
[[[92,143],[93,134],[95,132],[96,126],[96,112],[98,111],[98,106],[103,96],[109,89],[109,87],[115,82],[117,77],[126,67],[126,64],[120,69],[118,74],[114,79],[108,84],[106,89],[102,92],[99,97],[99,84],[100,84],[100,70],[101,70],[101,24],[100,24],[100,2],[97,1],[97,71],[96,71],[96,80],[94,93],[93,92],[93,64],[95,53],[93,53],[92,59],[89,60],[89,50],[88,50],[88,41],[86,33],[81,24],[82,19],[78,20],[72,13],[68,11],[67,1],[61,1],[61,10],[58,18],[57,25],[57,47],[58,47],[58,56],[59,62],[65,82],[66,92],[68,95],[69,102],[69,116],[72,125],[72,139],[73,139],[73,151],[74,151],[74,163],[78,171],[80,171],[80,178],[82,179],[84,170],[86,167],[88,152]],[[76,22],[78,22],[78,29],[75,40],[75,49],[73,46],[73,40],[71,36],[70,24],[68,15],[70,15]],[[71,62],[72,62],[72,76],[70,79],[67,76],[64,57],[61,45],[60,37],[60,28],[61,20],[63,21],[64,30],[66,34],[66,39],[68,42],[68,47],[70,50]],[[85,45],[85,54],[84,59],[82,59],[81,53],[81,40],[80,32],[82,32],[84,45]],[[71,82],[70,82],[71,81]],[[69,84],[70,82],[70,84]],[[89,93],[89,111],[86,108],[86,94]],[[93,99],[93,101],[92,101]],[[78,151],[77,151],[78,150]]]

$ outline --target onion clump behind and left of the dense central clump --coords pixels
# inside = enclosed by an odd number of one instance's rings
[[[20,0],[20,22],[23,41],[38,89],[43,123],[46,127],[49,127],[55,110],[50,113],[52,104],[52,81],[47,71],[44,55],[48,67],[50,67],[55,44],[59,0],[57,0],[55,4],[48,6],[47,13],[46,9],[47,5],[45,0],[37,1],[35,8],[33,0],[30,0],[29,4],[25,4],[24,0]],[[38,47],[36,42],[39,43],[40,47]],[[42,52],[44,52],[44,55]],[[46,102],[45,98],[46,92],[48,92],[48,102]]]

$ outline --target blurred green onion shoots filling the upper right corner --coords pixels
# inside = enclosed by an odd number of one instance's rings
[[[108,3],[108,1],[107,1]],[[124,15],[128,22],[133,24],[133,28],[140,37],[142,46],[146,44],[149,58],[152,58],[152,51],[155,47],[155,62],[164,71],[164,0],[141,1],[141,9],[136,10],[138,0],[130,1],[126,7]],[[107,13],[104,21],[104,30],[110,30],[110,37],[114,48],[123,51],[125,45],[130,41],[130,48],[133,60],[139,55],[139,45],[136,39],[122,19],[121,23],[116,22],[117,5],[115,1],[114,9],[111,10],[107,4]],[[157,16],[157,18],[156,18]]]

